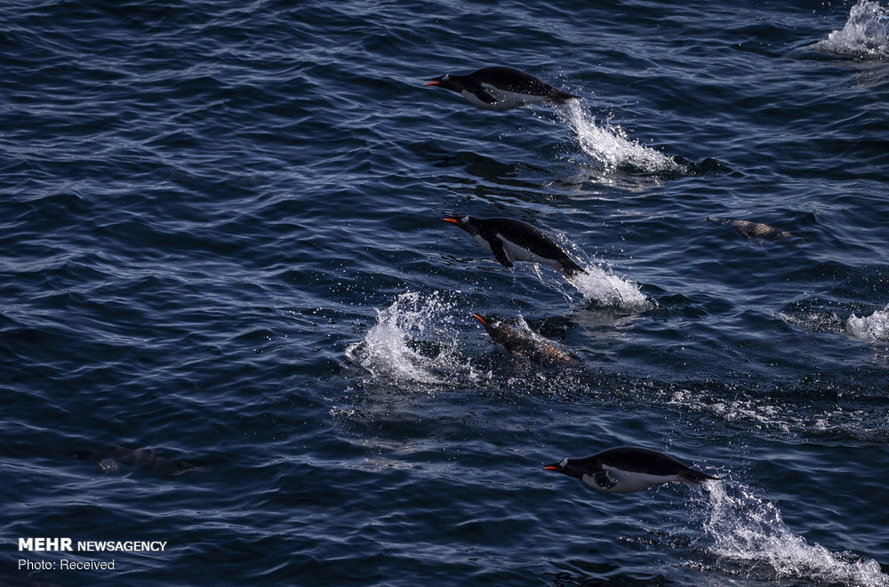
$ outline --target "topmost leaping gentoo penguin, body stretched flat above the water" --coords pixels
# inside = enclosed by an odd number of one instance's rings
[[[578,98],[512,67],[482,67],[467,75],[440,75],[426,80],[426,85],[456,91],[476,106],[493,110],[534,102],[565,104],[565,100]]]

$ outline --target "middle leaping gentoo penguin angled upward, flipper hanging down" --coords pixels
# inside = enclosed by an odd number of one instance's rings
[[[512,267],[514,261],[530,261],[553,266],[565,277],[587,273],[549,236],[521,220],[451,214],[445,214],[443,219],[475,236],[479,244],[493,252],[501,265]]]

